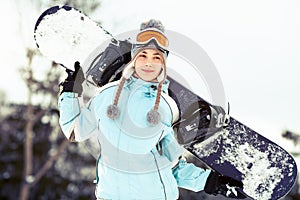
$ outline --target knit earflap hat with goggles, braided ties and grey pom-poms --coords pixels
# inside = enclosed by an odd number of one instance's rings
[[[150,125],[156,125],[160,122],[160,114],[158,112],[158,107],[160,103],[160,96],[162,92],[162,85],[166,80],[166,58],[168,56],[168,45],[169,41],[164,34],[165,28],[159,20],[151,19],[144,22],[140,26],[140,32],[136,36],[136,43],[133,44],[131,50],[132,60],[127,64],[122,73],[122,78],[113,102],[107,108],[107,116],[110,119],[116,119],[120,115],[120,110],[118,108],[118,101],[121,95],[125,81],[129,79],[134,73],[134,64],[137,55],[143,49],[157,49],[163,57],[163,67],[160,75],[157,77],[158,89],[155,100],[154,107],[147,113],[147,121]]]

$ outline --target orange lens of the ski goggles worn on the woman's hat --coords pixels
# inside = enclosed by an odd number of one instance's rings
[[[168,39],[157,31],[144,31],[137,35],[136,40],[137,42],[148,42],[150,39],[154,38],[162,47],[167,48],[169,45]]]

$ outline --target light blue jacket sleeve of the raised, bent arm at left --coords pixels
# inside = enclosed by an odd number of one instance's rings
[[[97,120],[93,112],[93,104],[90,103],[88,108],[80,106],[79,99],[74,95],[72,92],[64,92],[60,95],[59,124],[68,139],[79,142],[96,133]]]

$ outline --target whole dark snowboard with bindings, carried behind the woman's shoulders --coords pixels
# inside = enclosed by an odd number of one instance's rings
[[[122,68],[130,60],[130,42],[114,39],[69,6],[55,6],[43,12],[36,22],[34,38],[42,54],[56,63],[69,69],[73,69],[75,61],[83,63],[93,91],[120,78]],[[122,47],[127,49],[123,50],[126,56],[115,51],[106,59],[108,51]],[[287,151],[229,116],[222,107],[194,94],[180,80],[170,76],[168,80],[169,95],[180,112],[173,128],[187,151],[211,169],[242,181],[243,190],[237,190],[253,199],[280,199],[290,191],[296,181],[297,166]]]

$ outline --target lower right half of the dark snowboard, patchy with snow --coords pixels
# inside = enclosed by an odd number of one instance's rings
[[[169,79],[171,97],[177,102],[181,114],[187,110],[189,113],[193,102],[204,101],[180,83]],[[198,118],[203,118],[203,113]],[[297,178],[297,166],[293,157],[282,147],[233,117],[227,119],[222,130],[216,130],[211,136],[207,135],[210,132],[208,127],[203,130],[198,127],[201,122],[198,123],[192,119],[189,123],[183,121],[178,125],[180,142],[212,169],[242,181],[243,192],[249,197],[280,199],[291,190]]]

